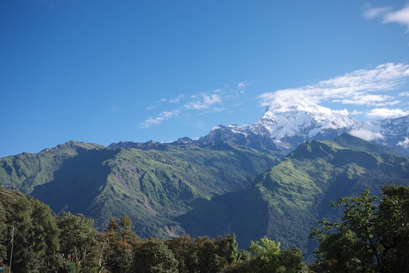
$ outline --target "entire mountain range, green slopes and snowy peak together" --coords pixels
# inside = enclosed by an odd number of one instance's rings
[[[128,215],[141,237],[236,233],[245,246],[269,236],[310,256],[312,226],[338,214],[330,200],[409,185],[408,128],[409,116],[356,121],[298,99],[267,108],[251,126],[217,126],[198,140],[69,141],[3,157],[0,184],[57,214],[92,217],[100,230]]]

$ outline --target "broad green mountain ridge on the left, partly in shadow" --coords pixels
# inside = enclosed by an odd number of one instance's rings
[[[0,159],[0,183],[39,198],[56,213],[84,213],[99,229],[110,217],[127,214],[139,236],[166,237],[185,233],[190,217],[183,223],[178,217],[197,202],[240,194],[275,163],[268,154],[227,142],[206,147],[128,142],[109,148],[71,141]],[[212,232],[222,230],[224,224],[215,224]]]

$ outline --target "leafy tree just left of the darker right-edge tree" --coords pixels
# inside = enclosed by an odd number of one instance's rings
[[[333,207],[343,207],[343,222],[331,223],[322,219],[310,236],[319,241],[315,254],[323,266],[326,264],[329,270],[337,272],[372,272],[378,267],[377,238],[374,237],[375,200],[377,197],[370,196],[370,191],[365,190],[361,196],[330,202]]]

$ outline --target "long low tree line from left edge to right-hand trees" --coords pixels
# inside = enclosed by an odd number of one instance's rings
[[[97,232],[92,219],[0,186],[0,260],[12,272],[298,272],[300,250],[262,238],[240,250],[234,234],[140,239],[128,216]],[[11,234],[13,231],[13,234]],[[13,248],[11,248],[13,245]]]

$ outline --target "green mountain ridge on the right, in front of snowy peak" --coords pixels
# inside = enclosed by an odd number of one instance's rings
[[[257,176],[236,216],[247,219],[247,224],[235,223],[238,238],[252,239],[246,230],[252,229],[252,223],[263,222],[259,236],[269,236],[284,247],[296,245],[311,255],[314,243],[307,238],[312,226],[317,219],[337,214],[329,201],[359,195],[365,188],[377,194],[383,184],[409,185],[409,158],[387,152],[385,147],[348,134],[303,143]],[[254,204],[263,208],[262,215],[268,219],[254,213]]]

